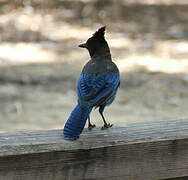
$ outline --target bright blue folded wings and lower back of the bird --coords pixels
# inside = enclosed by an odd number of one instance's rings
[[[85,106],[112,103],[120,84],[119,73],[81,74],[77,84],[78,101]]]

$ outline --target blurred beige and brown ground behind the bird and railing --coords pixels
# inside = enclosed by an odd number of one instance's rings
[[[122,77],[107,120],[188,117],[187,0],[0,0],[0,131],[63,127],[89,60],[77,46],[103,25]]]

